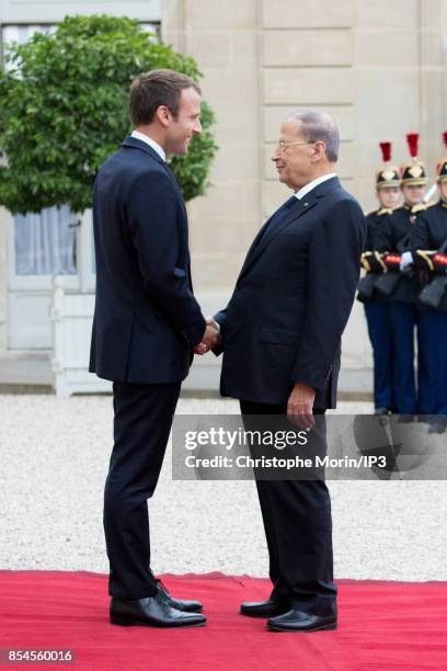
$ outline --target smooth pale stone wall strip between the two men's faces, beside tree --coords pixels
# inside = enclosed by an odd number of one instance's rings
[[[219,145],[205,197],[190,205],[195,289],[221,307],[261,225],[259,2],[168,0],[162,38],[193,56]],[[211,297],[215,296],[215,299]]]

